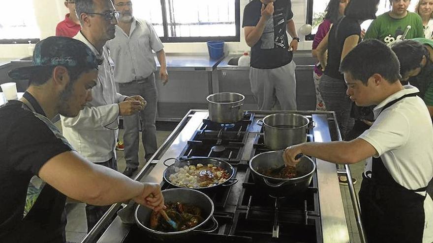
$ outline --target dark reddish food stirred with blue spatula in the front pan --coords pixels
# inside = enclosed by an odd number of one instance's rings
[[[165,204],[167,215],[176,222],[174,229],[159,212],[152,211],[150,218],[151,229],[160,232],[175,232],[193,228],[203,222],[202,210],[194,205],[181,202],[168,202]]]

